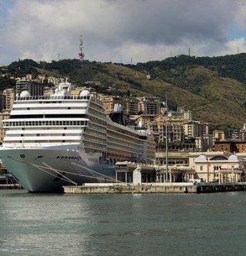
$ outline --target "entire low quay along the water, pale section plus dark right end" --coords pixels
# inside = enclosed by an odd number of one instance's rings
[[[194,184],[194,183],[142,183],[142,184],[83,184],[64,186],[65,194],[202,194],[229,191],[244,191],[246,183]]]

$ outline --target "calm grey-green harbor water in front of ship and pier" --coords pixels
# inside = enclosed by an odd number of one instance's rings
[[[0,255],[245,255],[246,192],[0,191]]]

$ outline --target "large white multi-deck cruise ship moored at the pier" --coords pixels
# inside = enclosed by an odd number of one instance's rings
[[[125,126],[121,106],[107,115],[87,89],[71,94],[60,83],[48,96],[16,96],[0,157],[9,173],[30,192],[62,186],[115,182],[115,163],[151,163],[155,142],[147,130]]]

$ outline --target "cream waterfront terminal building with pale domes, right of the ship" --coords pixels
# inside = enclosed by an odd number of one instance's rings
[[[157,152],[155,158],[162,181],[218,183],[246,181],[246,153],[169,152],[168,171],[166,153]]]

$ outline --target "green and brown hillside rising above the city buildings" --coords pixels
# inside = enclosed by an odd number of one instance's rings
[[[68,77],[83,86],[85,81],[101,81],[101,93],[124,96],[168,96],[169,106],[184,106],[194,120],[211,126],[241,128],[246,123],[246,54],[220,57],[176,56],[163,61],[122,65],[111,62],[80,62],[63,59],[37,63],[32,59],[12,62],[1,69],[8,76]],[[151,79],[147,78],[151,76]],[[0,79],[0,89],[6,87]]]

